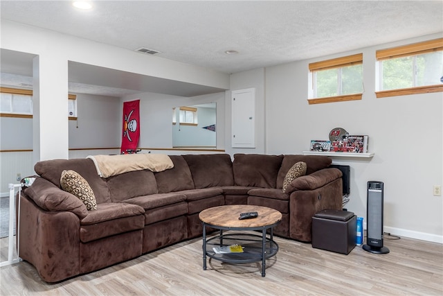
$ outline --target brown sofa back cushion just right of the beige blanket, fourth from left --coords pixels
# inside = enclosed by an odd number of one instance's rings
[[[227,154],[183,155],[195,189],[234,184],[233,162]]]

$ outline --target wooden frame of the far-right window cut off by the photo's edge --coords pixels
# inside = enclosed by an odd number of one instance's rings
[[[381,88],[381,62],[392,58],[404,58],[410,56],[431,53],[434,51],[443,51],[443,38],[406,44],[403,46],[395,46],[388,49],[379,49],[375,52],[377,60],[377,69],[379,70],[379,78],[377,79],[377,87]],[[414,59],[415,60],[415,59]],[[377,98],[386,98],[390,96],[406,96],[410,94],[427,94],[432,92],[443,92],[443,85],[424,85],[419,87],[406,87],[399,89],[387,89],[375,92]]]

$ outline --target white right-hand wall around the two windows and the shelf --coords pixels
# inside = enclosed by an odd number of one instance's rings
[[[328,139],[332,128],[368,134],[372,159],[334,157],[351,166],[347,209],[366,222],[366,186],[384,182],[387,232],[443,243],[442,93],[376,98],[375,51],[441,35],[373,46],[338,55],[266,68],[266,146],[269,154],[302,153],[311,139]],[[363,52],[361,101],[308,105],[308,64]]]

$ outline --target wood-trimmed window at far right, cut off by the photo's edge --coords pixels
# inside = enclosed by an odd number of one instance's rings
[[[443,92],[443,38],[377,51],[377,98]]]

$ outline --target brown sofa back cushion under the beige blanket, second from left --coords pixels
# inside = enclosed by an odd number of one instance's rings
[[[149,170],[132,171],[107,178],[112,202],[159,193],[154,173]]]

